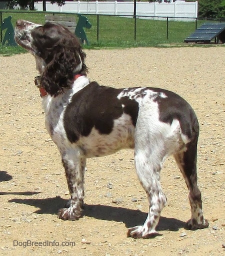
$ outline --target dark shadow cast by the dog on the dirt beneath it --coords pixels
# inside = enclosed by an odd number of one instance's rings
[[[46,199],[14,198],[9,200],[8,202],[35,206],[39,208],[35,211],[35,213],[38,214],[56,214],[58,209],[63,207],[67,203],[67,200],[56,196],[54,198]],[[127,228],[135,225],[142,225],[147,217],[147,213],[140,210],[132,210],[123,207],[107,206],[100,204],[84,204],[83,215],[102,220],[122,221]],[[159,223],[157,225],[157,230],[178,231],[179,228],[184,226],[185,222],[181,220],[175,218],[160,217]]]

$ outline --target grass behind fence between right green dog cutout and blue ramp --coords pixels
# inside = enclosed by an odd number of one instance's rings
[[[97,42],[96,17],[88,17],[92,24],[86,30],[87,38],[94,46],[137,47],[157,46],[162,43],[181,43],[194,29],[193,22],[169,22],[168,40],[166,39],[166,21],[136,20],[136,40],[134,41],[134,19],[100,16],[99,40]],[[184,31],[182,31],[182,28]],[[177,32],[176,32],[177,31]],[[181,33],[180,33],[181,32]]]

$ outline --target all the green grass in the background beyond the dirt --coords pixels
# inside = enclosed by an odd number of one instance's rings
[[[23,19],[38,24],[44,24],[45,13],[42,12],[2,12],[2,20],[12,17],[12,24]],[[59,14],[57,14],[59,15]],[[61,14],[69,15],[73,14]],[[129,47],[174,47],[187,45],[183,40],[195,30],[195,22],[168,22],[168,39],[166,38],[166,21],[136,19],[136,40],[134,40],[134,19],[113,16],[99,16],[99,37],[97,40],[97,16],[85,15],[92,24],[91,29],[85,29],[90,46],[96,48],[129,48]],[[198,21],[199,27],[205,21]],[[2,39],[5,31],[2,32]],[[0,55],[10,56],[24,53],[21,47],[0,46]]]

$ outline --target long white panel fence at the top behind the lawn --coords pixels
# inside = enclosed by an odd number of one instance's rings
[[[42,2],[34,4],[37,11],[43,11]],[[63,12],[75,14],[99,14],[99,15],[133,15],[133,2],[69,2],[65,1],[65,5],[58,7],[56,4],[46,2],[47,12]],[[136,16],[142,19],[160,19],[157,17],[177,18],[179,21],[193,21],[194,19],[181,18],[197,18],[197,1],[184,2],[176,1],[174,3],[147,3],[136,2]],[[156,17],[156,18],[153,18]],[[180,17],[180,18],[179,18]]]

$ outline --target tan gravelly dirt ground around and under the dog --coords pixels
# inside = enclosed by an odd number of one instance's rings
[[[200,124],[198,185],[209,227],[184,229],[187,188],[174,160],[161,170],[167,196],[152,239],[126,237],[148,204],[133,151],[91,158],[85,173],[84,216],[57,218],[69,198],[56,146],[44,128],[30,54],[0,57],[1,255],[225,255],[224,47],[86,50],[88,77],[116,88],[161,87],[185,98]],[[117,202],[117,203],[116,203]]]

